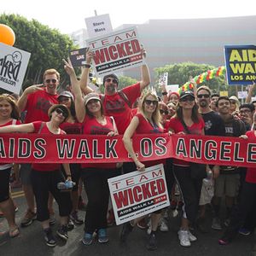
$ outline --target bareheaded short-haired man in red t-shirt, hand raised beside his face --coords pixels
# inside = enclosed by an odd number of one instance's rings
[[[32,85],[20,96],[18,108],[20,112],[26,112],[25,124],[35,121],[49,121],[49,108],[58,103],[57,87],[60,81],[60,73],[55,69],[47,69],[44,72],[44,84]],[[37,218],[35,212],[34,194],[31,183],[31,164],[20,165],[20,179],[26,197],[27,211],[21,220],[21,226],[28,226]],[[49,210],[53,212],[52,201]],[[51,214],[53,216],[53,214]],[[54,218],[52,218],[52,223]]]

